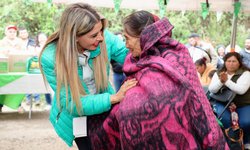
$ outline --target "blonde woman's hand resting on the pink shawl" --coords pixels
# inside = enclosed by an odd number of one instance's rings
[[[111,95],[110,97],[111,104],[120,102],[124,98],[126,92],[130,88],[134,87],[137,84],[137,82],[138,81],[136,79],[130,79],[125,81],[123,85],[120,87],[119,91],[116,94]]]

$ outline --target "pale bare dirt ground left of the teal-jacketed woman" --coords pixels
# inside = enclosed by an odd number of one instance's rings
[[[49,111],[36,109],[28,118],[28,110],[18,113],[3,107],[0,113],[0,150],[77,150],[69,148],[50,124]]]

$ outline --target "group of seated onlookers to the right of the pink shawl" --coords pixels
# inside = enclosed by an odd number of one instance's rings
[[[250,111],[250,37],[245,40],[243,49],[239,46],[235,51],[229,46],[219,44],[216,49],[212,44],[204,42],[197,33],[189,36],[186,45],[196,65],[198,76],[205,92],[217,93],[224,87],[236,93],[233,103],[237,106],[239,126],[244,131],[245,148],[250,149],[250,120],[246,116]],[[214,110],[221,114],[227,103],[216,102]],[[222,115],[225,128],[231,126],[231,112],[227,108]]]

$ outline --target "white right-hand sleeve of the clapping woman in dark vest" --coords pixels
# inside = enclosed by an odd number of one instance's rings
[[[236,94],[243,95],[247,92],[247,90],[250,87],[250,72],[245,71],[243,74],[239,77],[239,79],[235,82],[232,80],[227,80],[225,85],[234,91]]]

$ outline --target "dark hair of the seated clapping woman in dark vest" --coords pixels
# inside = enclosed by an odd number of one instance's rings
[[[241,68],[241,69],[243,69],[243,70],[249,70],[249,68],[247,68],[247,67],[242,63],[242,57],[240,56],[239,53],[237,53],[237,52],[229,52],[229,53],[227,53],[227,54],[223,57],[224,65],[223,65],[223,67],[221,68],[221,70],[220,70],[219,72],[227,71],[227,68],[226,68],[226,65],[225,65],[225,64],[226,64],[226,61],[228,60],[228,58],[230,58],[230,57],[232,57],[232,56],[234,56],[234,57],[238,60],[238,62],[239,62],[239,64],[240,64],[239,68]]]

